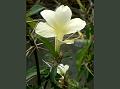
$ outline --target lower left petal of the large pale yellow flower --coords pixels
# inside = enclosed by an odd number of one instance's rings
[[[45,38],[55,37],[54,29],[47,23],[39,22],[35,28],[35,32]]]

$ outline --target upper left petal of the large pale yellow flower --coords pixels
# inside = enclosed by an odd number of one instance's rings
[[[40,13],[42,15],[42,17],[46,20],[46,22],[54,27],[55,22],[55,12],[52,10],[43,10]]]

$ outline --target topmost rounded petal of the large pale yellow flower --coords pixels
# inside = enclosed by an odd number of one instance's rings
[[[55,17],[57,21],[63,24],[70,21],[71,16],[72,16],[72,11],[68,6],[61,5],[55,11]]]

